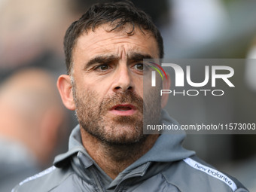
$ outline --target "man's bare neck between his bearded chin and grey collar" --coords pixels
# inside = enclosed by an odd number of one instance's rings
[[[112,179],[126,167],[147,153],[157,141],[159,135],[148,135],[141,142],[132,145],[111,145],[102,142],[81,128],[81,137],[84,148],[90,157]]]

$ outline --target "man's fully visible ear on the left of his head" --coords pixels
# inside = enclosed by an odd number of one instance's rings
[[[71,78],[69,75],[60,75],[57,81],[57,87],[63,104],[69,110],[75,110],[75,102],[72,93]]]

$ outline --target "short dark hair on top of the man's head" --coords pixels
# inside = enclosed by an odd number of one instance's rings
[[[129,1],[101,3],[91,6],[87,12],[83,14],[79,20],[73,22],[66,31],[64,52],[68,74],[70,74],[72,70],[72,50],[77,38],[83,32],[88,32],[90,29],[94,31],[97,26],[105,23],[110,23],[113,27],[110,32],[124,26],[126,23],[133,25],[132,31],[127,32],[128,35],[133,35],[136,26],[141,30],[150,31],[157,40],[159,56],[163,58],[163,38],[148,14],[136,8],[133,3]]]

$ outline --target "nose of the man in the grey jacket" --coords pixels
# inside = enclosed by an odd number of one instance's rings
[[[128,66],[119,66],[114,76],[113,91],[133,90],[133,77]]]

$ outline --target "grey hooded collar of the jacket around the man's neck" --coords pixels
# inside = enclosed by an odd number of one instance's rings
[[[172,119],[172,117],[169,117],[169,114],[164,110],[161,112],[161,123],[165,123],[166,125],[178,125],[178,123]],[[194,151],[188,151],[182,147],[182,142],[184,141],[185,136],[184,131],[179,131],[178,133],[173,134],[163,132],[157,139],[153,148],[140,157],[139,160],[136,160],[136,162],[128,166],[123,172],[130,172],[136,167],[142,166],[148,162],[173,162],[194,155]],[[84,166],[91,166],[94,161],[89,154],[87,154],[87,151],[82,145],[80,127],[78,125],[70,135],[69,151],[65,154],[56,156],[53,162],[54,166],[60,167],[69,163],[70,157],[72,157],[73,154],[78,154],[79,151],[87,157],[87,160],[83,162]]]

